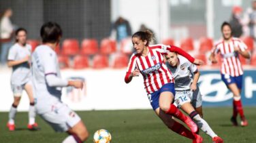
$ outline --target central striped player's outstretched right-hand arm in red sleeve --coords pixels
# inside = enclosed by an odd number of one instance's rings
[[[196,65],[204,64],[204,61],[193,58],[190,54],[188,54],[187,52],[183,51],[182,49],[180,49],[179,47],[176,47],[174,45],[171,45],[171,46],[167,47],[166,49],[167,49],[167,52],[176,52],[177,54],[180,54],[181,56],[187,58],[187,60],[189,60],[189,62],[191,62],[193,64],[196,64]]]

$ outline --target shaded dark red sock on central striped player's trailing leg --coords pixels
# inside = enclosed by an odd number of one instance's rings
[[[180,134],[181,136],[185,136],[192,140],[195,139],[195,136],[191,131],[189,131],[189,129],[187,129],[186,127],[184,127],[183,125],[181,125],[176,121],[174,121],[174,125],[172,125],[172,127],[169,127],[169,128],[172,129],[172,131],[176,132],[177,134]]]

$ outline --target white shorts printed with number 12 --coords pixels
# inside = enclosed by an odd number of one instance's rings
[[[202,95],[198,87],[195,91],[191,91],[191,90],[176,91],[174,100],[175,100],[174,105],[177,106],[178,108],[180,108],[182,104],[185,104],[187,102],[191,102],[194,108],[198,108],[199,106],[202,106]]]

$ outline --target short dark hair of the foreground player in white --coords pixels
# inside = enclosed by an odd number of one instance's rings
[[[56,43],[62,36],[61,26],[56,22],[46,22],[40,30],[43,43]]]

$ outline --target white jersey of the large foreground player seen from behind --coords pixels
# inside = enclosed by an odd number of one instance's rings
[[[48,45],[39,45],[32,54],[31,69],[37,113],[46,113],[61,102],[62,87],[50,87],[46,81],[47,75],[61,77],[57,54]]]

